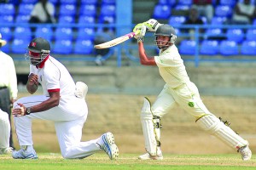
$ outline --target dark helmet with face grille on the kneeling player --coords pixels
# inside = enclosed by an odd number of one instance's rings
[[[29,59],[31,65],[38,65],[49,55],[50,45],[46,39],[36,37],[29,43],[27,50],[25,59]]]

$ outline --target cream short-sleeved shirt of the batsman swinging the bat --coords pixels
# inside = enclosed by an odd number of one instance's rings
[[[154,56],[154,60],[159,67],[160,76],[166,84],[170,88],[177,88],[186,82],[190,82],[177,47],[173,44],[164,52],[161,51],[159,56]]]

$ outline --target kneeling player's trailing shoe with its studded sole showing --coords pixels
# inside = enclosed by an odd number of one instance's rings
[[[102,135],[103,144],[100,148],[104,150],[111,160],[116,160],[119,156],[119,148],[114,144],[113,133],[104,133]]]

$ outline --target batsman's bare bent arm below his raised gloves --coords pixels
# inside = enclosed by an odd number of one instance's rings
[[[148,57],[146,54],[146,51],[143,46],[143,42],[138,42],[138,51],[139,51],[139,57],[140,62],[142,65],[156,65],[154,57]]]

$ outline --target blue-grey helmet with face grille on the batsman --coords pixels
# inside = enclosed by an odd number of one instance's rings
[[[176,36],[176,31],[174,28],[170,25],[161,25],[158,27],[158,29],[154,33],[155,36],[155,42],[158,48],[160,49],[166,49],[172,46],[172,44],[175,43],[177,36]],[[170,40],[168,41],[169,43],[162,43],[163,41],[158,40],[159,36],[165,36],[165,37],[170,37]]]

